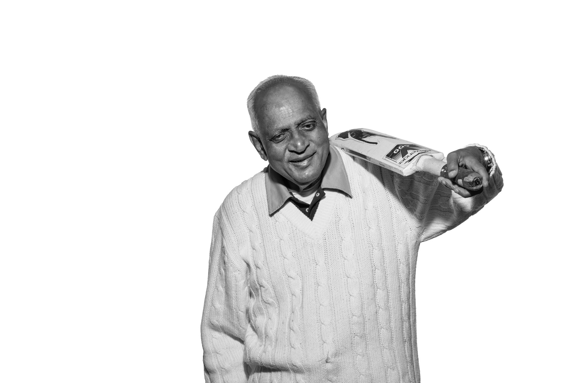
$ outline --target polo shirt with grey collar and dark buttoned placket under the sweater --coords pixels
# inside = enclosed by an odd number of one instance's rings
[[[352,197],[351,186],[343,164],[343,158],[341,158],[341,154],[338,150],[331,145],[329,145],[329,154],[325,162],[325,167],[323,168],[323,172],[321,172],[319,188],[315,192],[311,203],[305,203],[293,196],[286,187],[286,184],[285,178],[268,165],[267,172],[265,173],[265,191],[267,193],[269,215],[275,214],[275,212],[285,206],[286,203],[293,203],[303,214],[312,220],[320,200],[325,196],[323,189],[333,189]]]

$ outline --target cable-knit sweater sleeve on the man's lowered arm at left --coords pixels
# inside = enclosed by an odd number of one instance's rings
[[[247,289],[245,270],[237,259],[238,254],[227,252],[216,214],[201,318],[204,376],[208,383],[247,382],[247,364],[243,362]]]

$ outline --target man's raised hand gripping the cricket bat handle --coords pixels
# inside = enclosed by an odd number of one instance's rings
[[[455,150],[454,152],[448,153],[447,156],[447,169],[448,176],[450,178],[456,177],[456,173],[459,172],[459,167],[464,167],[471,169],[482,176],[482,187],[488,187],[488,172],[484,165],[482,164],[483,156],[482,152],[476,146],[467,146],[467,148],[462,148]],[[467,189],[460,187],[457,184],[453,184],[451,180],[439,177],[440,183],[448,187],[449,189],[455,191],[455,193],[468,198],[476,193],[472,193]]]

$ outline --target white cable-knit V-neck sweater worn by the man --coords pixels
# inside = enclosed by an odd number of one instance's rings
[[[494,198],[501,173],[465,199],[436,177],[403,177],[339,152],[352,198],[325,190],[312,221],[292,203],[269,216],[263,172],[216,213],[205,381],[420,381],[418,246]]]

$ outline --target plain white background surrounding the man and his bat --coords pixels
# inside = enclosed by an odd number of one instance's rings
[[[330,133],[496,154],[501,195],[421,245],[422,379],[572,381],[573,17],[566,1],[3,2],[0,381],[203,381],[212,217],[266,165],[245,101],[277,73],[315,83]]]

